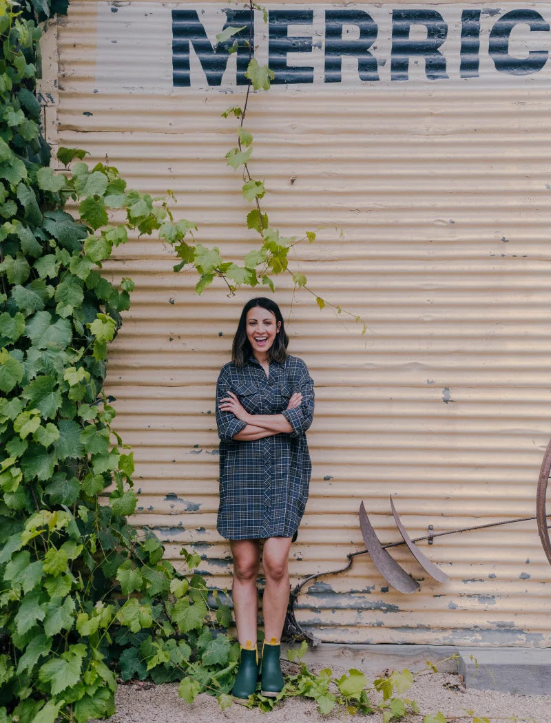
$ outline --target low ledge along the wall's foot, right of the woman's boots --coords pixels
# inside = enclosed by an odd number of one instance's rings
[[[296,646],[282,646],[283,649]],[[464,648],[440,645],[339,645],[321,643],[309,649],[304,662],[321,667],[364,670],[427,667],[458,673],[466,688],[500,690],[520,696],[551,694],[551,648]]]

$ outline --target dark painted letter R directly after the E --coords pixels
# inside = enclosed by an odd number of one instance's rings
[[[357,25],[359,38],[343,38],[343,25]],[[377,39],[377,25],[363,10],[325,10],[325,82],[340,83],[343,56],[358,59],[360,80],[379,80],[377,59],[370,48]]]

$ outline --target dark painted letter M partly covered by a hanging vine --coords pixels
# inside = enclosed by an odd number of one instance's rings
[[[226,22],[224,29],[243,27],[244,30],[236,33],[226,43],[218,43],[216,50],[208,39],[205,28],[199,20],[196,10],[172,11],[172,83],[181,87],[189,87],[189,46],[192,45],[199,58],[202,69],[207,77],[208,85],[221,85],[222,76],[228,65],[228,48],[234,40],[249,40],[249,26],[251,16],[248,10],[224,10]],[[253,33],[254,37],[254,33]],[[249,65],[249,48],[245,43],[239,43],[237,48],[237,85],[247,85],[245,77]]]

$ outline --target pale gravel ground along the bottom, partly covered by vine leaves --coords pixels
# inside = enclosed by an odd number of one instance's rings
[[[342,675],[347,668],[334,667],[335,675]],[[363,669],[369,680],[380,676],[380,670]],[[491,723],[503,721],[551,723],[551,696],[511,696],[495,690],[465,690],[461,677],[452,673],[424,672],[416,675],[412,688],[403,694],[417,701],[422,715],[441,711],[448,721],[472,723],[467,711],[476,716],[486,716]],[[422,715],[409,716],[407,723],[421,723]],[[264,718],[265,716],[265,718]],[[178,685],[152,685],[128,683],[120,685],[116,693],[116,714],[111,723],[328,723],[347,718],[346,712],[338,711],[322,716],[313,701],[290,698],[267,714],[249,710],[234,703],[221,711],[215,698],[202,694],[193,705],[178,698]],[[370,723],[380,723],[382,716],[376,713],[366,718]],[[478,722],[477,722],[478,723]],[[480,723],[486,723],[481,721]]]

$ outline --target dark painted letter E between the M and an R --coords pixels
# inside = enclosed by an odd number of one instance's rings
[[[288,53],[312,52],[312,38],[289,38],[289,25],[311,25],[313,10],[270,10],[268,17],[268,65],[273,83],[313,83],[314,68],[287,65]]]

